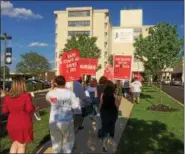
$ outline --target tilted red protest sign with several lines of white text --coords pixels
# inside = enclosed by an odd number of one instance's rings
[[[60,75],[63,75],[67,82],[80,79],[80,55],[78,49],[64,52],[61,56]]]

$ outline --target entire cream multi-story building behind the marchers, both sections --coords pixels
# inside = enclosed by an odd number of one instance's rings
[[[94,10],[92,7],[66,8],[54,11],[56,16],[56,74],[59,74],[59,55],[64,49],[67,39],[76,34],[88,34],[97,37],[97,46],[101,50],[99,64],[101,69],[97,78],[103,75],[104,68],[111,54],[131,55],[133,57],[132,72],[144,72],[143,64],[134,58],[134,39],[140,34],[147,36],[143,25],[143,11],[121,10],[120,26],[112,27],[109,10]]]

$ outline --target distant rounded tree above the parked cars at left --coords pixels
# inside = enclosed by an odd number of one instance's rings
[[[31,73],[38,76],[49,70],[48,60],[36,52],[29,52],[21,55],[21,61],[16,65],[17,72]]]

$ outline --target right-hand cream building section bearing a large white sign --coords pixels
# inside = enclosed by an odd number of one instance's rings
[[[133,43],[136,38],[142,34],[144,37],[148,35],[147,28],[151,26],[143,25],[143,11],[137,10],[121,10],[120,26],[112,27],[111,53],[118,55],[131,55],[133,57],[132,74],[144,72],[142,62],[134,58],[135,48]]]

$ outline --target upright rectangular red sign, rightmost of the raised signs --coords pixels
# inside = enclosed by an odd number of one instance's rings
[[[114,55],[114,79],[131,78],[132,56]]]

